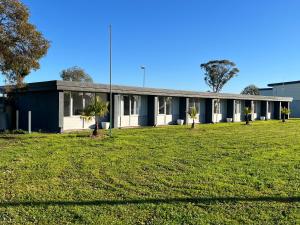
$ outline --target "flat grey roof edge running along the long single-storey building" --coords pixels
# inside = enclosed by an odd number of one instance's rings
[[[109,92],[107,84],[81,83],[73,81],[46,81],[38,83],[29,83],[26,85],[27,91],[82,91],[82,92]],[[240,95],[212,92],[196,92],[158,88],[143,88],[132,86],[112,85],[112,92],[115,94],[137,94],[137,95],[155,95],[171,97],[198,97],[198,98],[216,98],[216,99],[237,99],[237,100],[264,100],[264,101],[288,101],[291,97],[261,96],[261,95]]]

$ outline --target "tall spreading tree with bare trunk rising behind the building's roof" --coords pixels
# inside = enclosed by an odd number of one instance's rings
[[[205,71],[206,84],[216,93],[220,92],[224,85],[239,72],[235,63],[229,60],[213,60],[201,64],[200,67]]]

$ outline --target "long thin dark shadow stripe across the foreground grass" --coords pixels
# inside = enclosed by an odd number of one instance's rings
[[[238,202],[274,202],[298,203],[299,197],[216,197],[216,198],[169,198],[169,199],[133,199],[133,200],[94,200],[94,201],[27,201],[27,202],[0,202],[0,207],[17,206],[115,206],[141,204],[176,204],[176,203],[238,203]]]

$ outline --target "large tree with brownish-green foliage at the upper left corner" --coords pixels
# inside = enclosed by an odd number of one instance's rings
[[[29,10],[19,0],[0,0],[0,72],[19,86],[31,70],[40,68],[50,46],[28,19]]]

